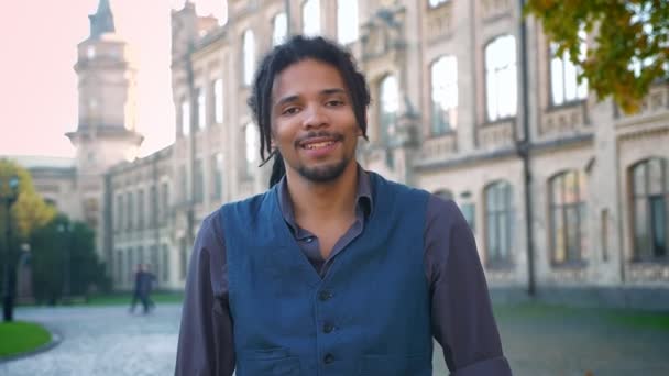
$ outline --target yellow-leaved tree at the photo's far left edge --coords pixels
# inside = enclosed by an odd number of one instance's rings
[[[18,195],[10,208],[9,197],[14,197],[7,181],[19,178]],[[47,223],[55,214],[55,209],[47,206],[35,192],[30,174],[18,164],[0,159],[0,290],[3,299],[4,320],[13,317],[17,289],[17,264],[21,244],[25,243],[34,229]]]

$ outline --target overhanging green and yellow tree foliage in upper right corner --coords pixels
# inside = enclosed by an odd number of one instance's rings
[[[634,113],[651,85],[669,81],[667,0],[528,0],[525,11],[541,22],[558,54],[569,53],[600,100],[612,97]],[[595,36],[584,59],[580,30]]]

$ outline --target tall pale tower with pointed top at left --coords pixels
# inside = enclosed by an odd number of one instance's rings
[[[76,148],[80,218],[98,234],[101,248],[103,174],[136,156],[143,136],[135,131],[136,67],[131,49],[116,33],[109,0],[89,15],[90,35],[77,46],[78,124],[66,133]]]

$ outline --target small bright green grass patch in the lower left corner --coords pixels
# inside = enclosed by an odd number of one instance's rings
[[[0,323],[0,357],[35,350],[51,341],[51,333],[32,322]]]

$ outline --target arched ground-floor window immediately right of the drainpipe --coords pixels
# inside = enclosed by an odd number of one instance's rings
[[[550,179],[550,248],[553,264],[580,262],[588,239],[585,174],[566,172]]]

